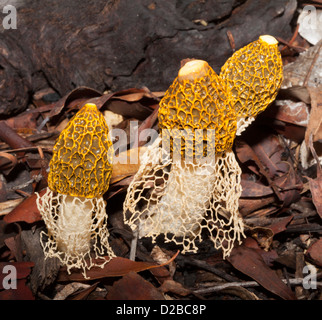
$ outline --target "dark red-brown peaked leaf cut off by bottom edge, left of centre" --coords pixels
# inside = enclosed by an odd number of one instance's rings
[[[107,300],[164,300],[158,289],[131,271],[116,281],[106,296]]]

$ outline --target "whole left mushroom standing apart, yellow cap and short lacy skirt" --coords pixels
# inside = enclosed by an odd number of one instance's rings
[[[48,188],[37,206],[48,234],[45,257],[57,257],[67,271],[103,266],[114,256],[107,230],[103,194],[109,187],[113,145],[103,115],[86,104],[57,139],[49,165]],[[94,257],[102,263],[94,262]],[[105,258],[103,255],[109,257]]]

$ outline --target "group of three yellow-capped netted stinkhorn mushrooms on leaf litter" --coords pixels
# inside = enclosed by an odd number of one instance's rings
[[[205,61],[186,63],[160,102],[161,134],[128,188],[125,223],[153,241],[164,234],[183,253],[196,252],[206,231],[229,255],[244,235],[234,138],[275,99],[281,81],[282,61],[271,36],[238,50],[219,76]],[[58,257],[68,271],[85,273],[96,265],[92,249],[96,258],[114,256],[103,200],[113,161],[108,132],[96,106],[85,105],[58,138],[49,188],[37,199],[48,229],[45,255]],[[102,259],[100,265],[108,261]]]

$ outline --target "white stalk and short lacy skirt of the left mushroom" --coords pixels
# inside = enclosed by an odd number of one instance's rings
[[[104,249],[113,257],[108,244],[107,216],[102,197],[88,199],[55,195],[47,188],[45,194],[38,197],[37,205],[48,231],[41,234],[46,257],[59,258],[69,272],[72,267],[85,272],[96,265],[92,262],[91,250],[96,258],[104,253]],[[102,263],[104,260],[102,258]]]

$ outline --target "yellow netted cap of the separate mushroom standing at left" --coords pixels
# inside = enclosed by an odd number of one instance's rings
[[[104,116],[86,104],[61,132],[48,174],[51,190],[70,196],[103,195],[112,172],[113,146]]]

